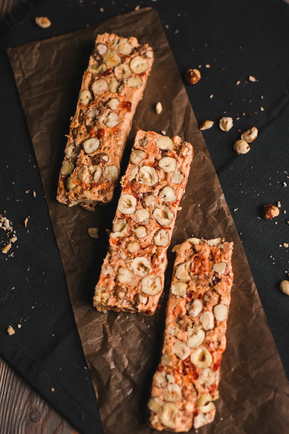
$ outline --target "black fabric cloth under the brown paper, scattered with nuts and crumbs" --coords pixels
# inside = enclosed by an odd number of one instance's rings
[[[201,72],[201,81],[186,85],[187,92],[198,122],[215,122],[204,131],[205,141],[289,376],[289,297],[278,289],[289,271],[289,249],[279,247],[289,242],[289,5],[283,0],[46,0],[19,26],[13,21],[13,29],[1,40],[0,214],[6,210],[12,220],[19,247],[13,246],[14,257],[7,260],[0,255],[0,352],[83,434],[101,433],[101,423],[4,48],[79,30],[129,12],[137,4],[158,10],[163,25],[169,26],[166,34],[182,76],[189,67]],[[52,26],[40,29],[35,16],[48,16]],[[211,67],[205,68],[206,64]],[[258,81],[249,82],[249,75]],[[218,127],[225,115],[234,119],[230,132]],[[248,154],[238,156],[232,149],[240,138],[238,130],[253,125],[258,138]],[[277,224],[264,220],[260,208],[278,201],[282,208]],[[23,220],[28,216],[25,229]],[[8,336],[8,325],[15,335]]]

